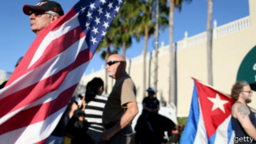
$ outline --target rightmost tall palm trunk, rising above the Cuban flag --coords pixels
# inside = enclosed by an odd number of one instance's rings
[[[212,80],[212,0],[208,0],[206,45],[207,45],[208,84],[212,86],[213,85],[213,80]]]

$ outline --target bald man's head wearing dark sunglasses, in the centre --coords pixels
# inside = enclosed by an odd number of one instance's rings
[[[114,79],[126,74],[126,62],[122,55],[112,54],[108,57],[106,69],[108,75]]]

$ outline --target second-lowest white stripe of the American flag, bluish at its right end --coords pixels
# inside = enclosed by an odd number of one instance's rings
[[[0,118],[0,125],[2,123],[6,122],[9,118],[11,118],[12,116],[14,116],[15,114],[17,114],[18,112],[20,112],[22,110],[26,110],[28,108],[40,105],[42,103],[50,102],[50,101],[54,100],[55,98],[57,98],[57,96],[61,92],[70,88],[71,86],[73,86],[74,84],[76,84],[80,81],[80,79],[84,73],[84,70],[88,66],[89,63],[90,63],[90,61],[88,61],[88,62],[82,64],[81,66],[75,68],[74,70],[70,71],[57,90],[50,92],[50,93],[46,94],[44,97],[40,98],[39,100],[36,100],[35,102],[33,102],[27,106],[24,106],[18,110],[15,110],[9,114],[6,114],[2,118]]]

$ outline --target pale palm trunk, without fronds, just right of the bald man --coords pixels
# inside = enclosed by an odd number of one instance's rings
[[[144,32],[144,46],[143,46],[143,73],[142,73],[142,92],[143,92],[143,98],[146,96],[145,90],[146,90],[146,54],[147,54],[147,45],[148,45],[148,26],[145,25],[145,32]]]

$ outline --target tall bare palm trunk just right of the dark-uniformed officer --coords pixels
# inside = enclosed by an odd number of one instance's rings
[[[173,24],[174,24],[174,0],[170,0],[169,8],[169,42],[170,42],[170,77],[169,77],[169,103],[176,105],[176,84],[175,84],[175,62],[174,62],[174,49],[173,49]]]

